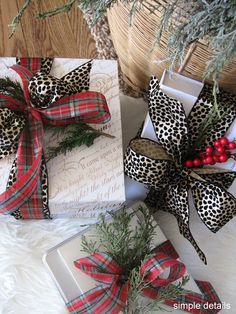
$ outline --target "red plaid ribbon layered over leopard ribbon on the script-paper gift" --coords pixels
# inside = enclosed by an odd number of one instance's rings
[[[25,102],[0,94],[0,107],[25,113],[26,127],[21,133],[17,150],[17,181],[0,194],[0,213],[10,214],[18,209],[24,219],[44,218],[41,164],[43,157],[43,124],[68,125],[76,122],[105,123],[110,119],[105,97],[97,92],[82,92],[54,102],[48,109],[31,106],[28,82],[33,71],[40,69],[41,59],[21,59],[14,65],[22,79]]]

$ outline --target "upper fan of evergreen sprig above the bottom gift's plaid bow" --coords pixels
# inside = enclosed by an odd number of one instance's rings
[[[135,212],[127,212],[125,208],[119,212],[110,212],[112,219],[109,221],[101,215],[99,224],[96,225],[96,235],[103,250],[126,270],[127,276],[133,268],[140,265],[145,256],[152,254],[151,242],[156,225],[149,210],[140,207],[138,211],[143,214],[144,222],[138,222],[135,230],[130,225]],[[85,251],[86,247],[89,248],[87,253],[98,249],[95,243],[94,247],[91,244],[92,242],[86,242],[83,248]]]

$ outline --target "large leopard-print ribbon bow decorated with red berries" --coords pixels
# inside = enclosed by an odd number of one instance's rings
[[[174,74],[173,80],[183,79]],[[173,89],[168,92],[173,93]],[[141,137],[133,139],[127,148],[125,173],[148,187],[146,202],[150,206],[177,218],[180,233],[206,263],[189,228],[188,197],[191,191],[199,217],[212,232],[236,214],[236,198],[228,191],[236,177],[236,145],[225,137],[230,128],[234,139],[236,96],[220,91],[216,107],[210,88],[204,86],[198,98],[185,97],[184,108],[177,100],[180,94],[177,91],[175,98],[169,97],[152,77],[149,115]]]

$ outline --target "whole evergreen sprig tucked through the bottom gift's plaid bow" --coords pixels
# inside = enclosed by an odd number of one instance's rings
[[[131,220],[139,212],[143,221],[133,230]],[[186,294],[184,285],[189,277],[185,276],[178,284],[170,284],[159,290],[159,297],[155,300],[142,298],[142,291],[148,286],[144,276],[140,276],[141,264],[150,258],[152,253],[152,241],[155,235],[156,224],[146,207],[139,207],[137,211],[129,212],[125,208],[116,213],[110,213],[112,220],[100,216],[94,235],[82,237],[82,250],[88,254],[102,251],[108,253],[124,270],[124,275],[130,280],[129,297],[124,313],[143,314],[163,310],[162,304],[165,299],[176,299]],[[98,241],[94,241],[96,237]]]

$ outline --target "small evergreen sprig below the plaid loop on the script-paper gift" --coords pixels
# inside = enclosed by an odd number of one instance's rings
[[[46,153],[46,161],[55,158],[59,154],[65,155],[66,153],[72,151],[72,149],[82,145],[89,147],[99,136],[114,138],[114,136],[96,130],[84,123],[72,124],[67,127],[55,127],[54,132],[57,134],[64,134],[64,138],[58,143],[57,146],[48,148]]]

